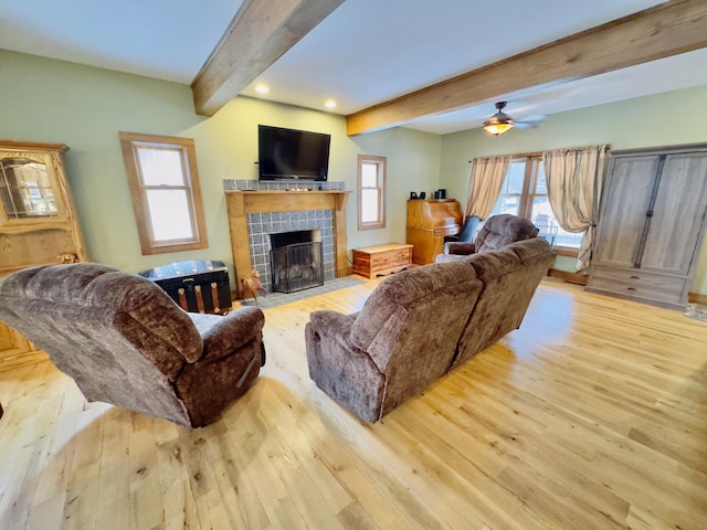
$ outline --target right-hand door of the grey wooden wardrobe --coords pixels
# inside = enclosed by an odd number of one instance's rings
[[[641,267],[687,275],[697,258],[707,211],[707,153],[667,155]]]

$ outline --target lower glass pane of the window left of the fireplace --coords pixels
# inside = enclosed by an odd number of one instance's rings
[[[186,190],[147,190],[155,241],[193,239]]]

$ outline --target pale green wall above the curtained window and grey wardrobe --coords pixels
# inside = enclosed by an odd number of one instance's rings
[[[707,142],[705,102],[707,86],[700,86],[556,114],[537,129],[510,130],[499,138],[481,129],[445,135],[442,137],[440,186],[465,204],[471,171],[468,161],[476,157],[597,144],[629,149]],[[556,266],[574,271],[574,259],[558,257]],[[703,244],[690,293],[707,295],[707,242]]]

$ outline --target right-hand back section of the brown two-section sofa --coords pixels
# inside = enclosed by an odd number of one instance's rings
[[[484,288],[458,342],[452,369],[520,326],[532,295],[552,265],[555,253],[545,239],[508,244],[474,254],[466,263]]]

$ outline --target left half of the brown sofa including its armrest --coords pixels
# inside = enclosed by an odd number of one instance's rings
[[[449,370],[482,283],[466,262],[387,277],[360,312],[314,311],[305,327],[309,377],[376,422]]]

